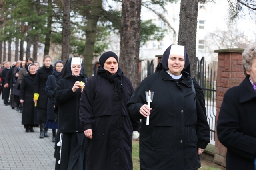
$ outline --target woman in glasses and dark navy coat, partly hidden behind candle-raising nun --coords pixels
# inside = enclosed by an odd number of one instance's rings
[[[55,123],[56,114],[54,112],[54,96],[53,96],[53,90],[55,89],[55,85],[60,79],[60,72],[63,68],[64,62],[62,60],[57,60],[54,63],[54,70],[52,72],[52,75],[50,75],[47,79],[45,91],[48,95],[47,100],[47,121],[45,124],[46,128],[52,129],[52,142],[55,142],[56,137],[56,129],[58,129],[58,124]]]

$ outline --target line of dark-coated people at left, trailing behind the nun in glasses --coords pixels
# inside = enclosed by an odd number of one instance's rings
[[[57,80],[64,62],[56,61],[55,69],[51,62],[52,59],[49,55],[44,57],[42,68],[39,68],[39,63],[32,58],[27,58],[26,61],[18,60],[12,67],[7,61],[1,69],[0,76],[4,104],[10,105],[12,109],[16,107],[16,110],[22,113],[21,124],[24,125],[25,132],[34,132],[34,127],[39,126],[39,137],[44,138],[50,137],[48,134],[48,128],[50,128],[53,132],[52,141],[55,142],[58,124],[54,122],[56,114],[54,113],[54,102],[51,101],[54,101],[52,93],[56,81],[51,81],[52,78]],[[49,80],[48,77],[50,77]],[[40,94],[38,102],[34,99],[35,93]],[[35,103],[38,104],[36,107]],[[46,109],[47,105],[49,105],[48,109]]]

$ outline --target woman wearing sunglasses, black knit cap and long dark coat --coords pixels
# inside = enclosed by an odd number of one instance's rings
[[[132,132],[140,130],[140,120],[129,117],[126,106],[132,92],[117,55],[102,54],[97,74],[86,83],[80,100],[88,170],[132,170]]]

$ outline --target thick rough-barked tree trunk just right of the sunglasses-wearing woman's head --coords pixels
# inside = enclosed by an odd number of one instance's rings
[[[134,88],[138,86],[140,11],[141,0],[122,1],[119,67],[130,78]]]

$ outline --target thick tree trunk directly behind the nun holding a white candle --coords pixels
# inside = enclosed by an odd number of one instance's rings
[[[184,45],[191,63],[191,75],[196,75],[196,29],[198,0],[181,0],[178,45]]]

